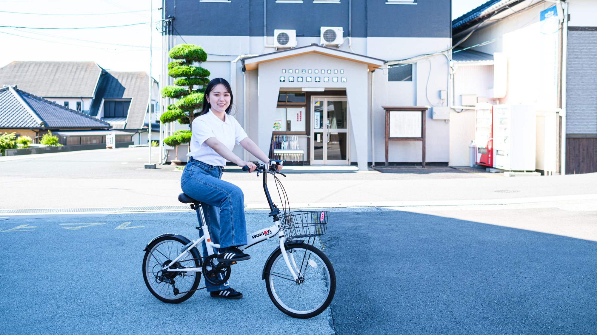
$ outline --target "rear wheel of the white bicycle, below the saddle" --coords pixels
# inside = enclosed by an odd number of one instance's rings
[[[195,293],[195,289],[199,286],[199,282],[201,281],[201,272],[192,272],[187,275],[187,272],[181,271],[173,273],[174,277],[171,279],[175,281],[174,286],[165,281],[158,283],[158,281],[160,281],[158,272],[161,270],[161,265],[168,260],[174,260],[180,255],[183,247],[190,242],[185,240],[186,238],[183,240],[179,237],[163,236],[156,238],[149,244],[149,246],[147,246],[147,251],[143,257],[143,280],[145,281],[147,289],[149,289],[153,296],[162,302],[181,303],[189,299],[193,293]],[[164,246],[164,248],[160,248],[161,246]],[[196,248],[190,249],[189,252],[190,255],[187,254],[183,256],[182,260],[201,257]],[[179,263],[179,265],[185,268],[201,268],[198,259],[187,260],[186,262]],[[179,284],[180,286],[177,287],[179,291],[188,292],[174,294],[173,287],[176,287],[176,284]]]

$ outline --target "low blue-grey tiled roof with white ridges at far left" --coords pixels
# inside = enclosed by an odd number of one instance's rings
[[[9,86],[0,89],[0,128],[108,129],[110,125]]]

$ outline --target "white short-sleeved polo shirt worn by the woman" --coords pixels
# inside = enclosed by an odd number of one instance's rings
[[[205,144],[205,140],[215,137],[218,141],[232,150],[235,143],[239,144],[247,137],[247,133],[242,129],[236,119],[228,114],[224,121],[220,120],[216,114],[208,111],[193,120],[193,134],[190,138],[190,153],[187,156],[201,162],[214,166],[225,166],[226,159],[216,153],[215,150]]]

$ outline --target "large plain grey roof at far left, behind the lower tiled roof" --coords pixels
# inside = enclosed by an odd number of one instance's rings
[[[13,61],[0,68],[0,86],[46,98],[93,98],[105,72],[93,61]]]

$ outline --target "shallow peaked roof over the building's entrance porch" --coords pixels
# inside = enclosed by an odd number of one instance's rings
[[[300,48],[276,51],[270,54],[242,58],[242,64],[247,71],[253,71],[257,70],[257,67],[260,63],[266,63],[268,61],[281,60],[284,58],[296,57],[306,54],[320,54],[329,57],[340,58],[343,60],[354,61],[356,63],[367,64],[367,68],[369,70],[378,69],[384,64],[383,60],[377,58],[353,54],[352,52],[341,51],[338,49],[326,48],[325,46],[317,44],[301,46]]]

